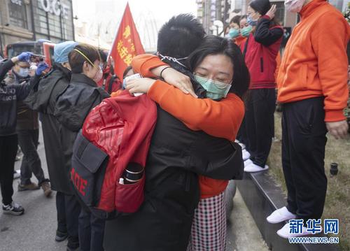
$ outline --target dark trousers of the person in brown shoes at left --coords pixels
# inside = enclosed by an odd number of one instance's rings
[[[43,168],[41,168],[41,161],[37,152],[38,148],[39,130],[19,130],[18,143],[23,152],[23,159],[21,164],[21,184],[29,185],[31,183],[31,173],[34,173],[38,179],[38,185],[48,181],[45,179]]]

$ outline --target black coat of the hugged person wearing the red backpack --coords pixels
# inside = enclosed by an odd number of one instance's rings
[[[191,131],[158,107],[146,163],[145,201],[137,213],[106,222],[106,251],[185,251],[200,200],[198,175],[241,178],[240,152],[223,138]]]

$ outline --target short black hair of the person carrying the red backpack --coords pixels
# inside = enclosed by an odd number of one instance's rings
[[[166,22],[158,33],[157,50],[160,54],[188,57],[203,41],[202,24],[191,14],[180,14]]]

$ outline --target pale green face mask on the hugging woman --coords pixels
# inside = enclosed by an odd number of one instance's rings
[[[220,100],[225,98],[230,91],[232,85],[221,83],[218,81],[211,80],[209,78],[203,78],[195,75],[195,80],[202,85],[207,91],[207,98],[213,100]]]

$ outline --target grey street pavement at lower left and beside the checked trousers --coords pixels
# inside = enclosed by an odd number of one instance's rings
[[[42,136],[39,141],[38,154],[47,177],[48,168]],[[20,164],[21,161],[16,162],[15,169],[19,169]],[[19,217],[3,215],[0,210],[0,251],[65,251],[66,241],[55,242],[57,227],[55,193],[51,198],[45,198],[41,189],[17,192],[18,181],[13,182],[15,191],[13,199],[25,207],[25,215]],[[32,178],[32,181],[38,182],[36,178]],[[232,224],[228,226],[227,251],[268,250],[238,190],[234,198],[231,222]]]

